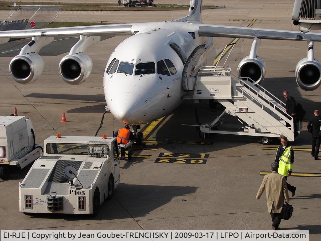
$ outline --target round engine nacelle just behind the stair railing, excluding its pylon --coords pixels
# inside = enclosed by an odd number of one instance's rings
[[[265,77],[265,63],[262,58],[243,58],[238,66],[238,77],[250,77],[255,83],[261,84]]]

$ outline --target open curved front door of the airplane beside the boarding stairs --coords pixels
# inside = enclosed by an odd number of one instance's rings
[[[187,58],[182,74],[182,87],[184,91],[190,91],[194,89],[195,77],[193,77],[196,61],[205,52],[205,45],[196,47],[190,56]]]

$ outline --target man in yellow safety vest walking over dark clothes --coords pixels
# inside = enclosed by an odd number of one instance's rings
[[[288,176],[291,176],[293,169],[294,151],[285,136],[281,137],[281,145],[276,151],[275,162],[279,164],[278,173],[285,176],[285,180],[287,180]],[[292,197],[294,197],[297,188],[289,183],[286,183],[286,185],[288,190],[292,192]]]

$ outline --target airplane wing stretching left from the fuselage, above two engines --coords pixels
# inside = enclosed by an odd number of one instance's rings
[[[65,28],[0,31],[0,38],[60,37],[60,36],[111,36],[132,35],[133,24],[91,25]]]

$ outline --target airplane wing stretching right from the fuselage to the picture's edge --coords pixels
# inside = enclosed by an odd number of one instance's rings
[[[258,39],[273,40],[321,41],[320,33],[306,33],[275,29],[256,29],[212,24],[200,24],[198,34],[202,37],[227,37],[242,39],[253,39],[256,37]]]

